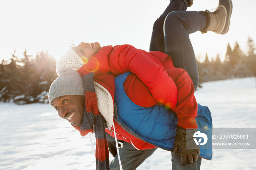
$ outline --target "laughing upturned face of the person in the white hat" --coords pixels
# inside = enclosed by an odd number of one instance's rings
[[[98,42],[95,43],[84,43],[81,42],[78,46],[72,47],[72,49],[78,54],[80,57],[86,57],[90,58],[94,54],[96,54],[99,49],[101,48],[101,45],[99,45]]]

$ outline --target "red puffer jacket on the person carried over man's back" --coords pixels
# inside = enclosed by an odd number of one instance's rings
[[[132,72],[124,83],[128,97],[142,107],[162,103],[177,114],[178,125],[197,128],[197,103],[193,83],[187,72],[175,68],[172,59],[159,51],[146,52],[131,45],[105,46],[91,57],[78,72],[81,76],[96,72],[94,81],[104,86],[114,98],[114,76]],[[97,75],[97,74],[96,74]],[[146,85],[146,86],[145,86]],[[152,96],[151,96],[152,94]]]

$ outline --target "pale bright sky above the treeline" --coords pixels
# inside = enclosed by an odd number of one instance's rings
[[[229,32],[190,35],[197,59],[217,54],[225,58],[227,44],[237,41],[246,51],[250,36],[256,40],[255,0],[233,0]],[[4,4],[4,5],[3,5]],[[15,55],[48,50],[58,59],[71,43],[99,42],[101,46],[131,44],[148,51],[154,21],[169,0],[8,0],[0,5],[0,62]],[[218,0],[194,0],[189,11],[205,11]]]

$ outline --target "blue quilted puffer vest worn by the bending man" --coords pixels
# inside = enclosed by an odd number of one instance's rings
[[[114,120],[133,136],[159,148],[173,151],[176,136],[177,115],[163,105],[141,107],[133,103],[124,91],[124,81],[131,73],[115,78],[114,103],[117,111]],[[208,141],[200,145],[200,157],[212,159],[212,119],[206,106],[198,104],[196,123],[200,132],[207,135]],[[198,130],[199,130],[198,129]]]

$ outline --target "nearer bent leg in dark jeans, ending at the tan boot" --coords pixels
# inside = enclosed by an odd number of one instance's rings
[[[199,77],[189,34],[202,31],[206,27],[206,22],[207,16],[203,11],[174,11],[166,16],[163,26],[165,53],[172,58],[174,67],[188,72],[195,90]]]

